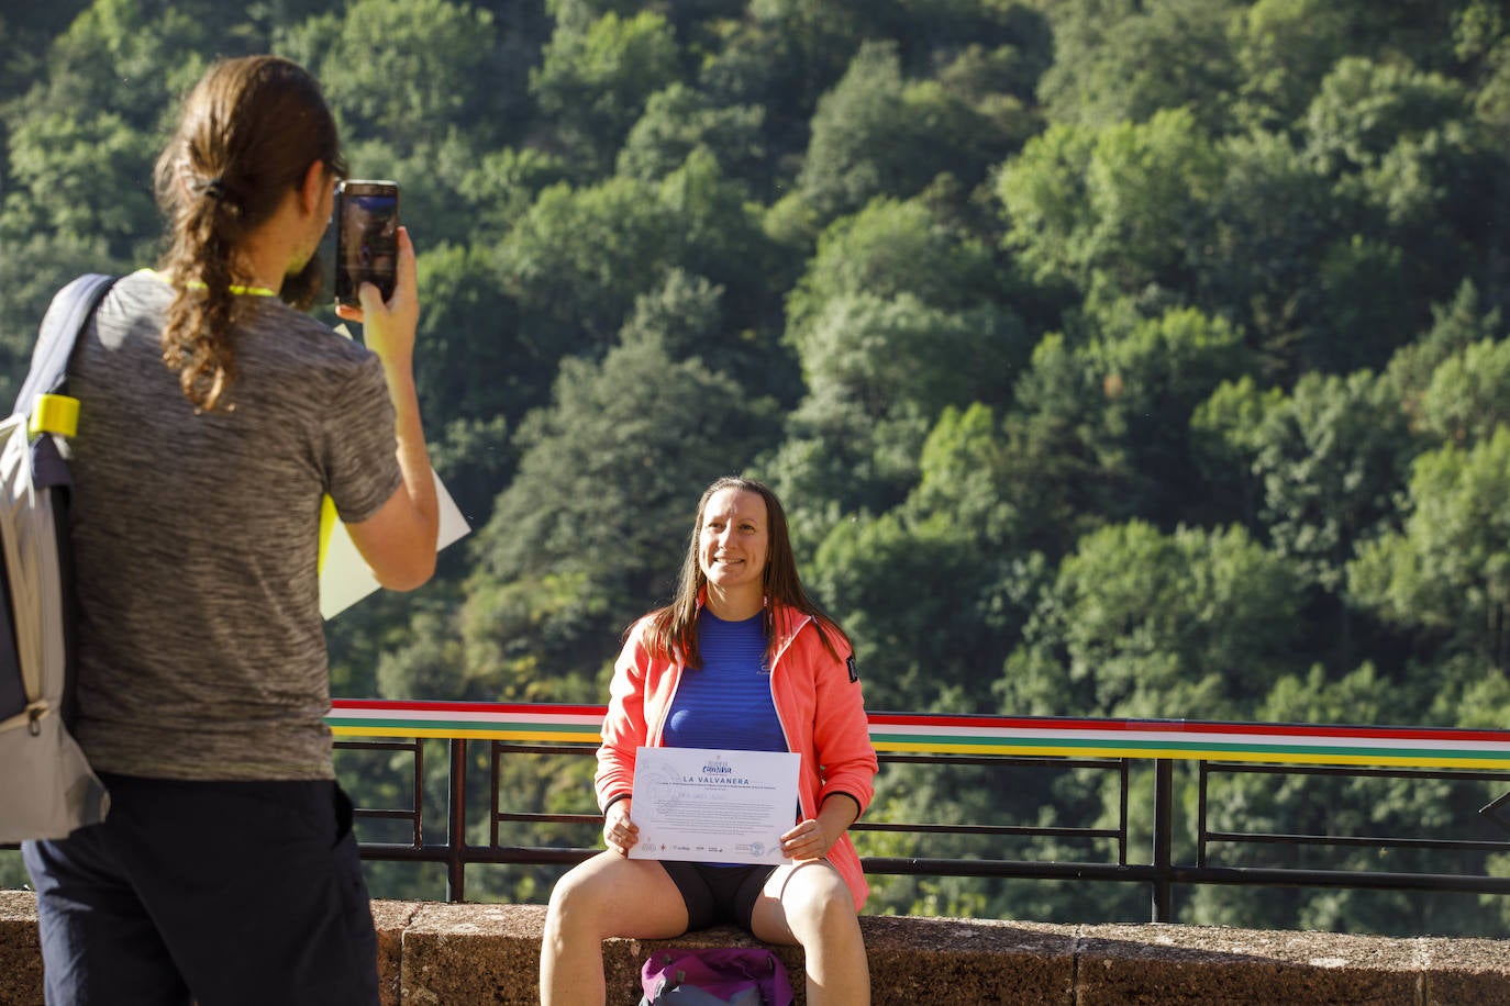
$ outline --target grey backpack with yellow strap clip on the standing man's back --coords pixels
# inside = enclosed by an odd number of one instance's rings
[[[42,320],[21,394],[0,422],[0,842],[63,839],[104,820],[110,798],[68,731],[74,686],[66,437],[60,394],[74,341],[112,276],[80,276]]]

